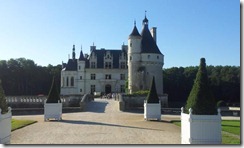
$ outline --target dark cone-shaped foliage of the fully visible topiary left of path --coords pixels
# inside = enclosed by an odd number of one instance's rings
[[[51,89],[49,91],[48,97],[47,97],[47,103],[58,103],[58,101],[61,102],[60,96],[57,90],[57,85],[55,82],[55,77],[53,77],[53,82]]]

